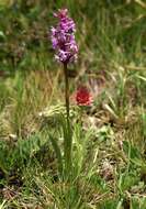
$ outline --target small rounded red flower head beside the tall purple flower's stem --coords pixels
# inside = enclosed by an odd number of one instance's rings
[[[78,106],[91,106],[92,96],[86,87],[80,87],[76,94],[76,102]]]

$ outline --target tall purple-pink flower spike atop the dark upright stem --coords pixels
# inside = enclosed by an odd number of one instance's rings
[[[78,46],[75,40],[76,25],[72,19],[68,16],[68,10],[58,10],[54,13],[58,24],[50,29],[52,44],[55,50],[55,58],[64,64],[77,59]]]

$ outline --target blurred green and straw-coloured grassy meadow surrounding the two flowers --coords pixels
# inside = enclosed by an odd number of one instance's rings
[[[71,185],[58,179],[48,139],[55,131],[63,146],[64,78],[49,40],[53,12],[63,7],[79,44],[71,98],[82,82],[94,97],[83,130],[70,98]],[[138,0],[0,0],[1,209],[146,208],[145,13]]]

